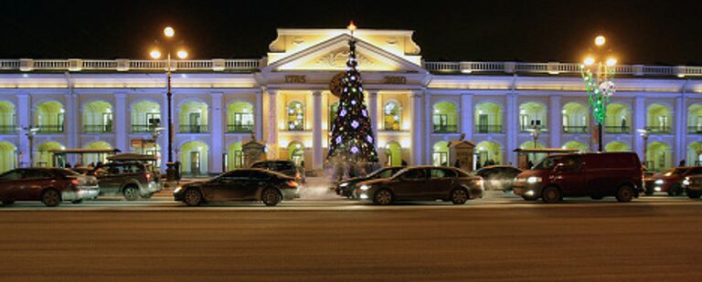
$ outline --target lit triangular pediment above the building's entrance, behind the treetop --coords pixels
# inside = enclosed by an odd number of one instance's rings
[[[401,57],[357,37],[339,35],[312,47],[282,57],[264,71],[342,71],[346,69],[348,40],[356,40],[356,59],[361,71],[425,73],[419,56]]]

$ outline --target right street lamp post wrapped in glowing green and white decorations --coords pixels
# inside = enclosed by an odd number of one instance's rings
[[[605,57],[603,51],[605,38],[595,37],[596,51],[594,56],[586,57],[580,65],[580,75],[585,82],[585,89],[588,92],[592,115],[597,121],[597,143],[598,151],[602,150],[602,124],[607,117],[607,103],[616,91],[614,86],[614,66],[617,59]]]

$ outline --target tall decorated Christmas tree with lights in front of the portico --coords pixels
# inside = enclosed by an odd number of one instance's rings
[[[351,36],[356,26],[349,26]],[[370,117],[363,101],[363,79],[356,68],[356,40],[348,41],[346,75],[341,79],[341,93],[332,125],[327,159],[334,162],[378,162]]]

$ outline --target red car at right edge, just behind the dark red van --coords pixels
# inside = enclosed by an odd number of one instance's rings
[[[677,196],[683,193],[682,182],[688,175],[702,174],[702,166],[679,166],[667,172],[645,178],[646,195],[656,192]]]

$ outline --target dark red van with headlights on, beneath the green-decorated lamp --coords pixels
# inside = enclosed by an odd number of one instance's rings
[[[643,193],[644,171],[633,152],[553,155],[516,176],[513,191],[527,201],[558,203],[563,197],[615,196],[631,202]]]

